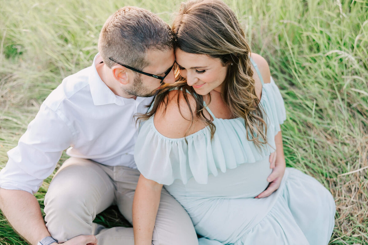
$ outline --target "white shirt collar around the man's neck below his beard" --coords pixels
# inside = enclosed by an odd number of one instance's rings
[[[107,85],[101,80],[98,75],[96,64],[99,64],[102,61],[100,54],[96,54],[93,59],[91,72],[88,76],[88,83],[91,89],[91,95],[93,104],[95,105],[106,105],[106,104],[117,104],[117,105],[125,105],[125,104],[140,104],[142,101],[145,101],[148,98],[137,97],[135,100],[133,98],[124,98],[121,96],[117,96],[107,87]],[[149,98],[152,100],[152,98]]]

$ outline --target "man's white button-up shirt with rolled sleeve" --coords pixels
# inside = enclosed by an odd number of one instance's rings
[[[8,151],[1,188],[37,192],[67,148],[69,156],[137,168],[133,116],[147,112],[152,97],[114,94],[97,73],[101,61],[97,54],[92,66],[65,78],[42,103],[18,146]]]

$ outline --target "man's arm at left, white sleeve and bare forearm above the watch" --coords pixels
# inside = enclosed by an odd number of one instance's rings
[[[0,208],[13,228],[31,244],[50,236],[35,193],[71,144],[66,123],[45,105],[28,125],[0,172]]]

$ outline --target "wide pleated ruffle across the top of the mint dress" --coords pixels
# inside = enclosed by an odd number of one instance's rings
[[[217,176],[219,170],[224,173],[240,164],[264,159],[275,151],[275,135],[286,119],[284,101],[272,77],[271,83],[263,85],[261,105],[268,140],[262,149],[247,140],[242,118],[215,118],[216,132],[211,140],[208,127],[185,138],[165,137],[157,131],[151,117],[139,129],[135,163],[143,176],[159,184],[170,185],[176,179],[186,184],[191,177],[206,184],[209,174]]]

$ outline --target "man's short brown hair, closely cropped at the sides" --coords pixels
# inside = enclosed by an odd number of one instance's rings
[[[157,15],[137,7],[123,7],[105,22],[98,40],[98,50],[103,62],[110,68],[113,58],[125,65],[143,69],[148,49],[173,48],[173,32]]]

